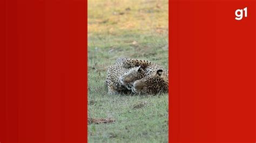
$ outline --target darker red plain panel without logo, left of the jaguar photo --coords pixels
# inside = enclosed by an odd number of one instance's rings
[[[86,142],[87,2],[0,6],[0,142]]]

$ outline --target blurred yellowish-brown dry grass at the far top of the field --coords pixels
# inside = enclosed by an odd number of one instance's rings
[[[88,35],[120,31],[168,33],[168,1],[89,1]]]

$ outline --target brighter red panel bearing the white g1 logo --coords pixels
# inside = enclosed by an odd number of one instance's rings
[[[256,2],[169,4],[169,141],[255,142]]]

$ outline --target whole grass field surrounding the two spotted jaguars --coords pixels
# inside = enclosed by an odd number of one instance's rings
[[[106,69],[119,56],[167,69],[168,29],[166,0],[88,2],[89,142],[168,141],[167,94],[107,95],[104,87]]]

